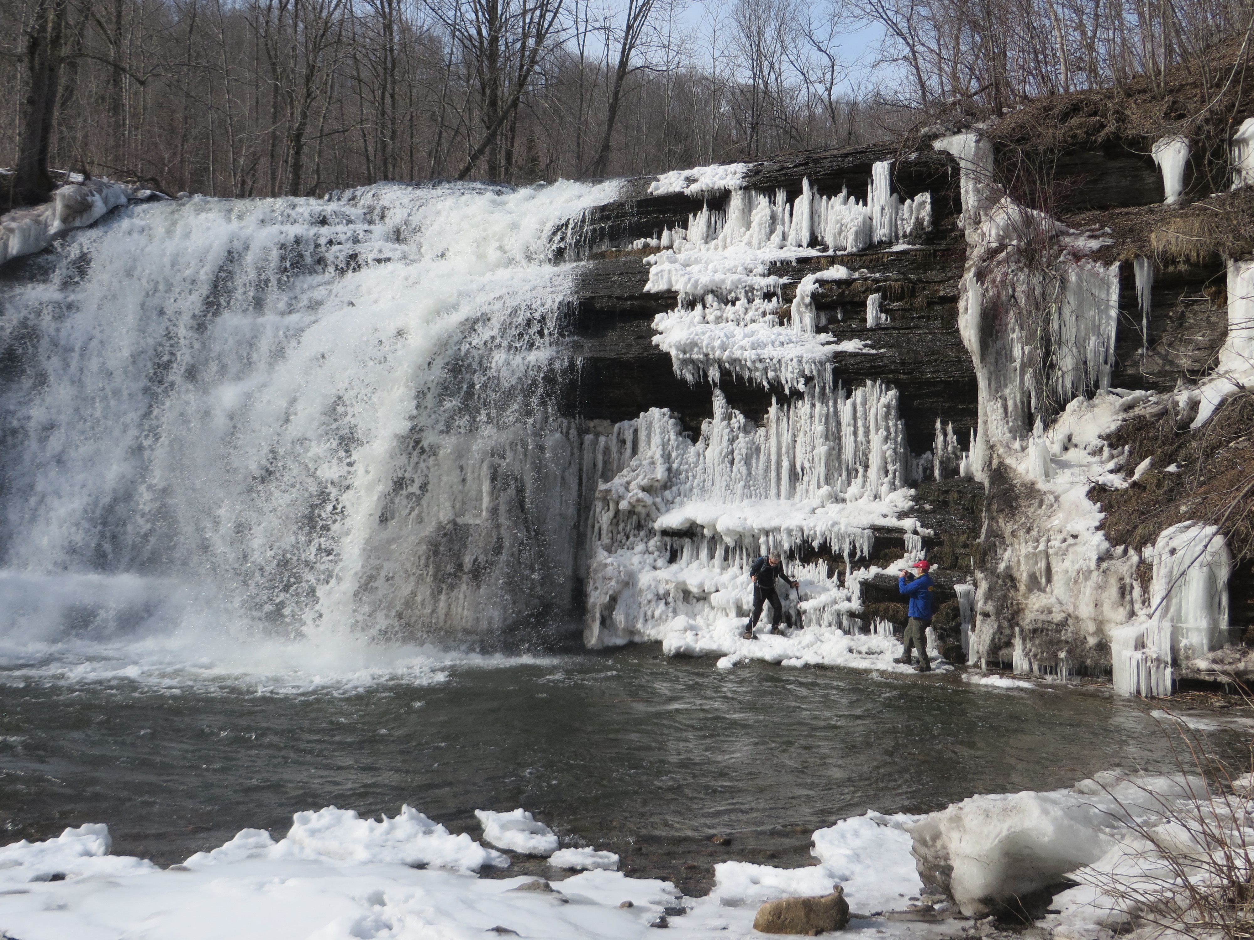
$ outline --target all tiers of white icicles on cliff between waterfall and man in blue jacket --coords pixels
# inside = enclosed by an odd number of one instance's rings
[[[854,635],[860,580],[873,574],[854,563],[869,553],[874,529],[914,536],[922,555],[918,524],[905,514],[909,484],[925,462],[907,447],[895,390],[838,381],[833,352],[874,348],[834,342],[820,332],[815,306],[825,283],[870,274],[840,264],[808,273],[784,308],[784,278],[772,267],[824,247],[861,251],[930,228],[930,197],[903,203],[892,192],[890,162],[873,165],[867,192],[865,202],[848,189],[824,196],[809,179],[793,199],[782,189],[734,188],[721,206],[707,201],[685,228],[663,233],[661,251],[645,259],[646,290],[677,295],[678,307],[653,322],[653,341],[671,353],[677,375],[715,385],[730,375],[795,397],[776,399],[757,426],[716,387],[714,417],[695,442],[657,410],[611,435],[589,435],[583,475],[597,488],[587,645],[660,639],[672,655],[719,654],[722,668],[749,658],[902,668],[892,663],[899,650],[892,634]],[[882,300],[873,295],[869,325],[887,322]],[[804,635],[755,645],[741,637],[752,599],[747,569],[767,549],[789,559],[823,551],[830,560],[790,561],[801,590],[785,590],[782,600],[790,622],[804,618]]]

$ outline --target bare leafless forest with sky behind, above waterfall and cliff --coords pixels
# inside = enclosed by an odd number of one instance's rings
[[[0,0],[0,164],[41,133],[53,167],[221,196],[657,173],[1161,73],[1238,4]]]

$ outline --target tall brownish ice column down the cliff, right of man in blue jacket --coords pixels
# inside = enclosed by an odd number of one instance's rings
[[[1166,405],[1110,389],[1120,268],[1090,257],[1104,242],[1007,196],[978,132],[934,145],[962,172],[968,256],[958,328],[979,406],[968,465],[986,483],[996,469],[999,480],[1022,480],[1041,494],[994,536],[1001,561],[976,593],[972,654],[999,657],[1012,645],[1016,672],[1065,677],[1076,664],[1065,650],[1042,649],[1031,624],[1067,624],[1092,645],[1136,614],[1140,559],[1106,541],[1087,493],[1095,483],[1127,485],[1124,455],[1102,435],[1130,414],[1160,414]],[[1146,302],[1149,269],[1137,271]],[[952,466],[956,451],[938,432],[935,465]]]

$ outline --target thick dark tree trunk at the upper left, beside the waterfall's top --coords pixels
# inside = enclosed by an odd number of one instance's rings
[[[66,0],[39,0],[26,41],[26,102],[21,113],[13,202],[34,206],[53,193],[48,157],[56,117]]]

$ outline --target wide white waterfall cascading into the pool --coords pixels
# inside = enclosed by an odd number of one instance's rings
[[[0,288],[0,630],[493,642],[569,607],[562,183],[124,211]]]

